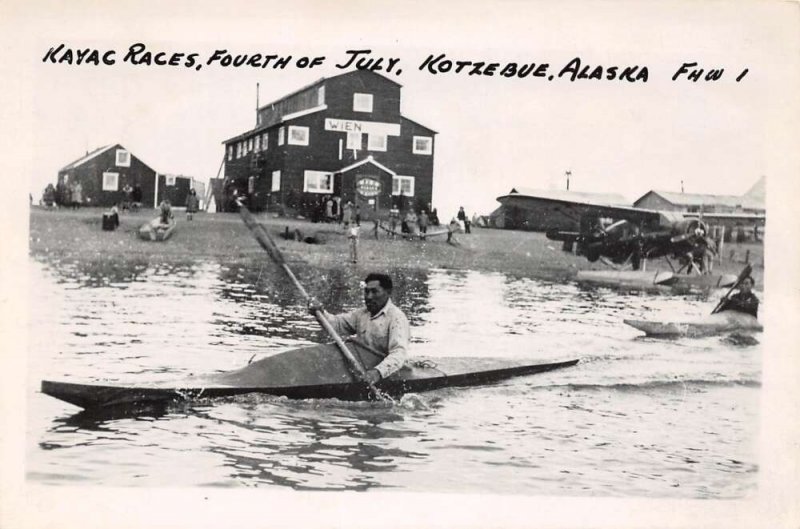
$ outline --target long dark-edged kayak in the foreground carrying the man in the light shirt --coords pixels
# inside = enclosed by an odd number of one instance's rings
[[[348,347],[366,369],[381,358],[355,342]],[[378,389],[390,396],[446,387],[481,386],[512,377],[574,366],[578,360],[530,364],[481,358],[415,359],[381,380]],[[198,398],[262,393],[292,399],[368,400],[369,390],[354,381],[334,344],[292,349],[251,362],[233,371],[182,380],[141,384],[82,384],[43,380],[42,393],[84,409],[168,404]]]

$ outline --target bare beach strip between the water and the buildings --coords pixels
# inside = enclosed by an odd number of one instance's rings
[[[267,258],[244,222],[236,213],[196,213],[187,221],[185,213],[175,210],[177,227],[165,242],[143,241],[138,229],[157,216],[155,210],[120,214],[115,231],[102,231],[103,208],[80,210],[46,210],[33,206],[30,210],[29,255],[57,256],[75,259],[147,259],[151,262],[177,262],[215,259],[220,262],[250,261]],[[344,229],[333,223],[312,223],[308,220],[256,214],[256,219],[272,236],[289,262],[329,269],[348,266],[360,271],[412,268],[449,269],[496,272],[517,277],[566,281],[581,270],[611,270],[582,256],[561,250],[557,241],[543,233],[493,228],[475,228],[471,234],[458,233],[459,245],[447,244],[446,235],[427,241],[387,238],[380,231],[376,240],[373,222],[361,225],[359,262],[350,263],[349,242]],[[315,236],[322,244],[286,240],[281,235],[300,230],[303,237]],[[763,243],[726,243],[714,273],[738,274],[749,251],[756,288],[763,290]],[[729,259],[731,250],[734,260]],[[669,271],[663,259],[647,263],[648,270]]]

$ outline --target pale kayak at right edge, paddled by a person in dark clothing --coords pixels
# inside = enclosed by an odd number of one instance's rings
[[[643,320],[624,320],[631,327],[647,336],[688,336],[701,337],[724,334],[732,331],[763,331],[758,319],[750,314],[726,310],[698,318],[694,321],[659,322]]]

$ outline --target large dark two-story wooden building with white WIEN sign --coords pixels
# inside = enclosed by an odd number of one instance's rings
[[[261,106],[224,141],[225,194],[311,215],[335,196],[369,211],[432,201],[436,132],[400,113],[401,86],[370,71],[323,78]]]

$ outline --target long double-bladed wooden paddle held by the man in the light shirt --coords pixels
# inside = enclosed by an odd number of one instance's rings
[[[286,259],[283,258],[283,254],[275,245],[275,241],[272,240],[267,230],[264,229],[261,224],[256,221],[253,214],[250,213],[250,210],[245,207],[242,202],[237,201],[239,205],[239,215],[241,215],[242,220],[244,221],[247,228],[250,230],[250,233],[256,238],[258,244],[266,250],[267,254],[272,258],[272,260],[277,264],[289,277],[289,279],[294,283],[294,286],[297,290],[300,291],[300,294],[305,298],[306,301],[311,299],[311,296],[306,292],[306,289],[303,288],[303,285],[300,284],[300,281],[297,280],[297,277],[292,272],[292,269],[289,268],[289,265],[286,263]],[[331,322],[325,317],[321,310],[315,309],[314,310],[314,317],[317,319],[322,328],[330,335],[333,339],[336,346],[339,348],[339,351],[342,353],[342,356],[345,359],[345,364],[347,364],[347,368],[350,370],[350,373],[355,377],[358,382],[365,384],[369,388],[370,396],[375,400],[384,400],[383,394],[378,391],[378,388],[375,387],[375,384],[369,381],[367,378],[367,371],[364,369],[364,366],[361,362],[356,358],[356,356],[347,348],[347,345],[342,340],[342,337],[336,332],[336,330],[331,325]]]

